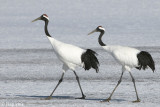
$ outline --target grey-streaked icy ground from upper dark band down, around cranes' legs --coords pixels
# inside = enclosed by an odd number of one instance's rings
[[[158,107],[160,105],[160,47],[137,47],[151,53],[156,62],[156,72],[132,70],[137,90],[141,99],[136,100],[133,83],[128,72],[125,72],[121,85],[116,90],[110,103],[101,103],[107,98],[121,74],[121,66],[101,48],[93,48],[99,53],[101,66],[99,73],[93,69],[77,69],[82,89],[87,96],[85,100],[75,99],[81,93],[72,71],[65,73],[64,81],[53,95],[53,99],[44,100],[61,76],[61,62],[52,49],[1,49],[0,105],[19,106],[131,106]]]

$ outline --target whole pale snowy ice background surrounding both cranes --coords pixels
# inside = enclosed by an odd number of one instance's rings
[[[160,105],[160,1],[146,0],[1,0],[0,3],[0,106],[1,107],[159,107]],[[75,75],[67,71],[53,95],[44,100],[60,79],[62,63],[45,37],[44,22],[32,20],[49,16],[50,34],[65,43],[96,51],[99,73],[77,68],[85,100]],[[98,33],[87,34],[97,26],[105,29],[103,41],[110,45],[132,46],[153,56],[156,71],[132,69],[140,103],[133,83],[125,72],[122,83],[108,103],[117,84],[121,66],[98,44]]]

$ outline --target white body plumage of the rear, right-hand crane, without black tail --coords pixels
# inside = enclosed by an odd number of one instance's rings
[[[121,64],[126,70],[130,71],[130,68],[138,67],[137,54],[140,50],[123,46],[102,46],[107,52],[109,52],[116,61]]]

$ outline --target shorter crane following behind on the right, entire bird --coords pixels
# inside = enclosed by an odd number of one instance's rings
[[[137,96],[137,100],[134,102],[140,102],[140,99],[139,99],[138,93],[137,93],[137,89],[136,89],[136,85],[135,85],[135,80],[131,74],[131,68],[135,67],[139,70],[141,70],[141,68],[145,70],[149,66],[152,69],[152,71],[154,72],[155,64],[152,59],[152,56],[148,52],[140,51],[135,48],[123,47],[123,46],[111,46],[111,45],[104,44],[102,42],[101,38],[102,38],[103,34],[105,33],[105,29],[102,26],[98,26],[95,30],[90,32],[88,35],[90,35],[94,32],[100,32],[100,35],[98,38],[99,44],[102,46],[102,48],[104,48],[107,52],[109,52],[119,64],[122,65],[122,74],[120,76],[118,84],[116,85],[116,87],[112,91],[109,98],[105,99],[103,101],[109,102],[111,100],[111,97],[112,97],[114,91],[116,90],[118,85],[121,83],[124,71],[127,70],[127,71],[129,71],[129,74],[132,78],[132,82],[134,84],[134,88],[135,88],[135,92],[136,92],[136,96]]]

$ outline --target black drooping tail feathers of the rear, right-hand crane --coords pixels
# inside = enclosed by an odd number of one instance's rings
[[[139,54],[137,54],[137,58],[139,65],[139,67],[136,67],[137,69],[141,70],[142,68],[145,70],[147,66],[149,66],[153,72],[155,71],[155,63],[152,59],[152,56],[148,52],[141,51]]]

